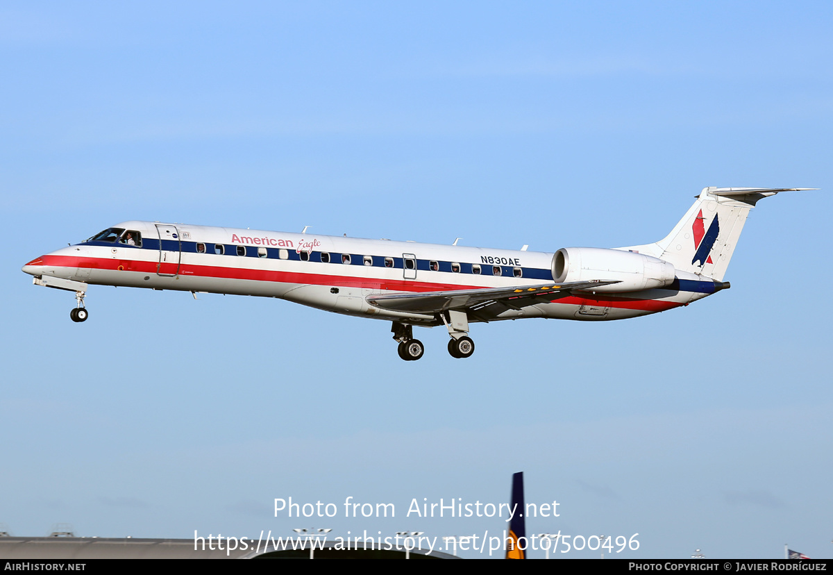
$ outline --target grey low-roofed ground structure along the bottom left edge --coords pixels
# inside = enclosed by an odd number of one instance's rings
[[[257,539],[255,539],[257,541]],[[309,545],[305,549],[255,552],[252,548],[221,551],[202,545],[195,550],[193,539],[142,539],[137,537],[0,537],[2,559],[309,559]],[[323,549],[321,548],[323,547]],[[329,547],[333,547],[332,549]],[[427,549],[404,550],[337,550],[337,542],[317,543],[316,559],[456,559],[441,552],[427,554]],[[406,555],[408,557],[406,557]]]

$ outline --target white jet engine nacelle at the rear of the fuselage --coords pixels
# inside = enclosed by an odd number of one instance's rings
[[[603,248],[561,248],[552,258],[556,283],[617,281],[595,292],[639,292],[663,288],[674,281],[671,263],[641,253]]]

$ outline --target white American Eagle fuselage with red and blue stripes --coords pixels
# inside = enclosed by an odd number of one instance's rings
[[[439,325],[441,319],[379,308],[366,298],[554,281],[553,253],[136,221],[109,229],[115,230],[112,238],[61,248],[23,271],[87,284],[282,298],[335,313],[423,325]],[[134,245],[118,237],[127,234],[124,230],[132,232]],[[682,288],[678,282],[633,293],[581,292],[506,309],[489,321],[633,318],[708,295],[686,288],[686,283],[701,283],[698,276],[678,273],[678,278]]]

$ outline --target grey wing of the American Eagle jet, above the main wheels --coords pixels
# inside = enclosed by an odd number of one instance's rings
[[[521,309],[536,303],[566,298],[576,290],[592,290],[619,282],[548,283],[511,288],[461,289],[450,292],[382,293],[367,296],[367,303],[395,312],[438,313],[446,310],[477,312],[494,304],[499,308]],[[491,314],[489,314],[491,315]]]

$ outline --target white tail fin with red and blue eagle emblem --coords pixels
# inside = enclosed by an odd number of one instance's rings
[[[666,238],[630,249],[674,264],[683,272],[723,281],[743,224],[761,198],[817,188],[703,188]]]

